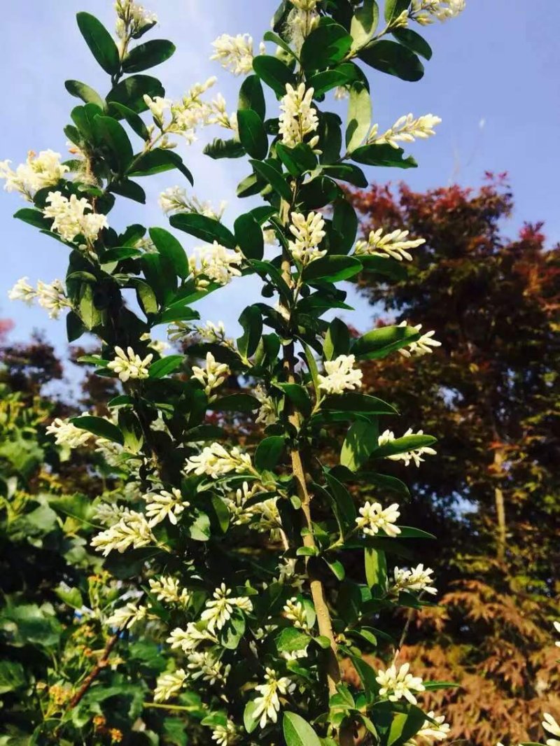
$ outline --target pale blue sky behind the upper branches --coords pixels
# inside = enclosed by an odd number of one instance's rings
[[[9,158],[15,166],[25,160],[29,149],[65,153],[62,129],[78,101],[66,93],[63,81],[77,78],[100,93],[108,88],[107,76],[81,39],[75,13],[87,10],[112,28],[112,4],[110,0],[31,0],[4,9],[0,160]],[[167,95],[178,98],[194,81],[217,75],[216,90],[224,93],[228,109],[234,110],[240,79],[208,59],[211,42],[223,32],[249,32],[259,40],[276,0],[146,0],[145,4],[158,13],[156,36],[171,39],[178,48],[168,63],[154,70]],[[467,10],[458,19],[425,31],[434,57],[420,83],[408,84],[371,71],[373,116],[382,128],[409,111],[432,112],[443,119],[436,137],[411,146],[418,169],[375,169],[375,173],[372,169],[371,178],[399,181],[404,175],[412,188],[421,190],[452,182],[476,186],[485,170],[508,171],[516,209],[506,230],[514,233],[523,220],[542,219],[550,242],[558,241],[559,23],[560,4],[550,0],[467,0]],[[217,135],[220,132],[214,129],[202,133],[190,148],[181,145],[181,154],[195,176],[196,195],[216,203],[228,201],[224,220],[231,225],[238,210],[246,209],[234,190],[249,169],[241,160],[212,161],[202,155],[205,140]],[[120,200],[120,207],[111,213],[112,225],[166,225],[158,193],[180,179],[178,172],[170,172],[143,180],[148,206]],[[8,289],[22,275],[32,283],[51,281],[63,277],[66,268],[62,245],[12,219],[22,206],[17,195],[0,194],[4,268],[0,318],[9,316],[15,322],[11,339],[28,339],[31,330],[43,329],[63,351],[63,321],[52,322],[40,308],[7,300]],[[181,238],[186,238],[185,248],[193,245],[187,236]],[[235,319],[254,292],[252,280],[238,280],[199,304],[199,310],[203,318],[223,319],[234,333]],[[365,328],[371,308],[361,299],[356,307],[358,318],[352,321]]]

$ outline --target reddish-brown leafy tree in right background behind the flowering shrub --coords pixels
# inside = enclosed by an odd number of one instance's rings
[[[505,176],[476,190],[372,186],[353,204],[366,235],[405,226],[409,239],[426,239],[408,275],[385,286],[379,325],[422,324],[441,341],[434,354],[364,366],[367,385],[411,413],[413,427],[437,422],[441,433],[438,460],[406,472],[408,521],[444,539],[443,552],[423,554],[441,606],[414,615],[407,655],[426,677],[461,683],[433,695],[455,737],[535,739],[538,713],[560,706],[551,636],[560,613],[560,248],[547,248],[538,223],[504,235],[513,207]],[[359,285],[379,303],[378,286],[364,275]]]

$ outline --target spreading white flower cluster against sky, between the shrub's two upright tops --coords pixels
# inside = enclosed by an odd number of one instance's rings
[[[168,139],[169,134],[182,135],[189,144],[196,140],[196,128],[209,124],[213,113],[211,104],[202,99],[202,94],[215,83],[216,78],[208,78],[205,83],[194,84],[181,101],[144,95],[144,103],[161,131],[159,147],[173,147]]]

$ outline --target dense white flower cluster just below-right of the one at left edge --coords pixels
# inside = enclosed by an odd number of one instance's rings
[[[45,207],[43,215],[52,219],[52,231],[60,234],[65,241],[73,241],[76,236],[84,236],[91,245],[99,236],[102,228],[108,227],[105,215],[93,212],[93,207],[85,197],[78,199],[75,194],[66,198],[62,192],[49,192],[46,198],[49,207]]]

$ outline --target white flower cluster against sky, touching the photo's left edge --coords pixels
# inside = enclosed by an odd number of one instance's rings
[[[38,155],[30,151],[25,163],[15,171],[10,169],[10,163],[10,160],[0,161],[0,179],[6,181],[4,189],[7,192],[19,192],[30,202],[39,189],[55,186],[70,170],[60,163],[60,153],[52,150],[42,150]]]

